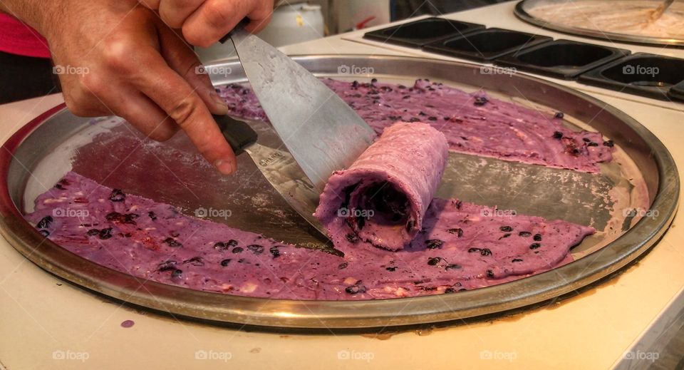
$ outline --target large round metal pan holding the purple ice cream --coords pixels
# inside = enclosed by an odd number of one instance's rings
[[[119,118],[77,118],[58,106],[16,132],[0,152],[0,230],[26,258],[81,287],[175,315],[279,328],[363,328],[443,322],[505,312],[579,289],[616,272],[663,235],[675,214],[679,182],[675,163],[660,140],[616,108],[569,88],[522,74],[497,74],[480,66],[393,56],[296,56],[318,76],[348,76],[357,68],[380,81],[411,83],[431,78],[467,91],[492,95],[540,111],[563,111],[569,125],[599,130],[616,142],[615,160],[601,175],[505,162],[452,153],[438,191],[519,213],[593,225],[572,255],[575,262],[533,277],[458,294],[357,302],[296,301],[199,292],[101,267],[44,239],[24,220],[36,195],[68,170],[103,185],[182,207],[240,209],[239,217],[217,219],[269,237],[326,247],[301,217],[254,174],[242,158],[242,173],[219,178],[203,165],[187,138],[152,143],[135,137]],[[207,66],[217,85],[244,82],[237,61]],[[254,123],[260,143],[276,145],[268,125]],[[99,135],[99,133],[105,133]],[[227,194],[233,194],[228,197]],[[614,206],[619,200],[620,209]],[[650,210],[649,217],[624,214],[624,207]]]

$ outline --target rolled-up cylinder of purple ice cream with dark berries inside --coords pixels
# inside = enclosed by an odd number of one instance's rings
[[[448,155],[444,134],[432,126],[395,123],[349,168],[333,173],[315,215],[334,245],[358,238],[400,250],[423,227]]]

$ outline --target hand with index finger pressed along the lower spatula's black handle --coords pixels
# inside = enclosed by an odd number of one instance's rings
[[[182,129],[209,163],[234,172],[234,153],[211,115],[228,108],[177,31],[133,0],[61,4],[73,8],[61,9],[43,34],[56,65],[87,71],[59,75],[74,114],[119,115],[154,140]]]

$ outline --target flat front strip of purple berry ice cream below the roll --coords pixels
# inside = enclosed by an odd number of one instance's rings
[[[67,250],[142,279],[278,299],[380,299],[475,289],[571,261],[591,227],[432,200],[397,252],[339,240],[344,257],[200,220],[67,173],[36,198],[29,222]]]

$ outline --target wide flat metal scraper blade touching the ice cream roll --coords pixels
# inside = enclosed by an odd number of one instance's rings
[[[231,38],[271,125],[320,193],[375,139],[373,129],[328,86],[242,24]]]

